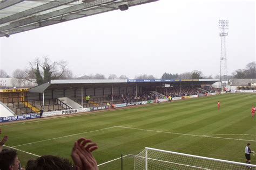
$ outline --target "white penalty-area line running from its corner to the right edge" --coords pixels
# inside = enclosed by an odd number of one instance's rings
[[[230,140],[241,140],[241,141],[256,141],[256,140],[247,140],[247,139],[236,139],[236,138],[223,138],[223,137],[213,137],[213,136],[205,136],[205,135],[197,135],[197,134],[186,134],[186,133],[174,133],[174,132],[164,132],[164,131],[156,131],[156,130],[148,130],[148,129],[139,129],[139,128],[130,128],[125,126],[117,126],[119,128],[126,128],[126,129],[135,129],[135,130],[142,130],[142,131],[150,131],[150,132],[158,132],[158,133],[169,133],[169,134],[180,134],[185,136],[196,136],[196,137],[205,137],[205,138],[218,138],[218,139],[230,139]]]

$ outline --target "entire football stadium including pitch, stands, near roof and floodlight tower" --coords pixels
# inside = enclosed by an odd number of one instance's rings
[[[0,37],[148,3],[158,2],[1,1]],[[0,170],[256,169],[255,62],[228,78],[223,47],[218,79],[0,76]]]

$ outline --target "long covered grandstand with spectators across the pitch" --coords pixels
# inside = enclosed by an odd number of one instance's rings
[[[160,100],[170,95],[199,95],[214,92],[203,88],[217,81],[218,79],[51,80],[27,91],[9,91],[9,95],[5,90],[5,93],[0,93],[0,98],[14,114],[20,115],[36,113],[41,109],[58,111],[106,107],[107,104]],[[87,96],[90,96],[90,101],[86,101]]]

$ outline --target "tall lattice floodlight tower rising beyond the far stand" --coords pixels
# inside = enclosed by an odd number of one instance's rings
[[[226,37],[228,36],[228,20],[219,20],[219,29],[221,32],[221,49],[220,49],[220,87],[227,86],[227,57],[226,57]],[[225,82],[225,83],[224,83]]]

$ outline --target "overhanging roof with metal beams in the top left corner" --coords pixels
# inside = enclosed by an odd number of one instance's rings
[[[0,0],[0,37],[158,0]]]

